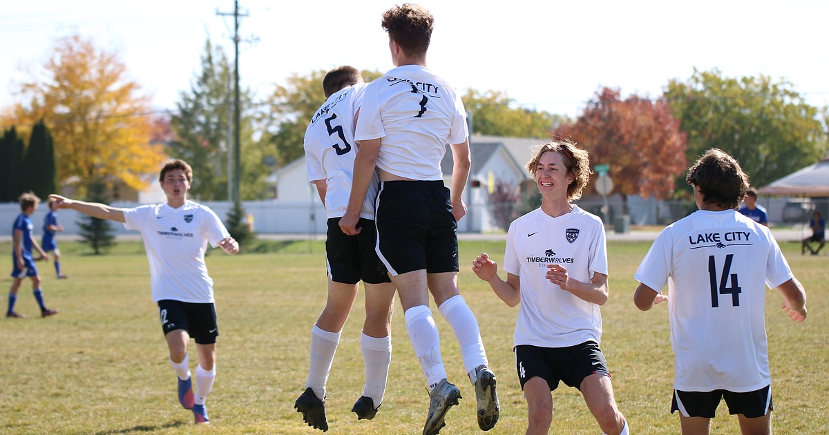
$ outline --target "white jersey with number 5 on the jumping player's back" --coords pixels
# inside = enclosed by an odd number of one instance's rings
[[[328,219],[346,214],[354,179],[354,118],[360,109],[366,84],[360,83],[332,94],[313,115],[305,130],[305,169],[308,181],[325,180]],[[374,219],[377,176],[371,179],[360,216]]]

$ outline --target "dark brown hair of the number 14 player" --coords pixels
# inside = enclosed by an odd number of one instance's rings
[[[734,209],[749,189],[749,176],[734,157],[711,148],[689,169],[686,181],[699,187],[702,201],[726,209]]]

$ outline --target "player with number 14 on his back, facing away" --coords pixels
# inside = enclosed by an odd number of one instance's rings
[[[633,277],[633,301],[642,311],[668,302],[671,413],[680,412],[682,433],[710,433],[723,398],[744,434],[771,433],[765,289],[783,294],[781,307],[797,322],[806,318],[806,292],[768,228],[734,210],[749,187],[734,157],[710,149],[686,181],[700,210],[653,242]]]

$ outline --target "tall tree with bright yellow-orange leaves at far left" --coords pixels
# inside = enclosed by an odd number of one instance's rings
[[[58,179],[78,176],[119,179],[142,189],[141,176],[154,173],[164,158],[150,144],[148,99],[127,77],[114,52],[98,50],[81,36],[56,41],[39,80],[20,85],[19,101],[2,123],[27,132],[38,121],[49,126]]]

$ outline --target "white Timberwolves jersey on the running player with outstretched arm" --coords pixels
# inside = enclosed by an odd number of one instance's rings
[[[124,209],[124,227],[138,230],[150,264],[153,301],[209,303],[213,279],[207,275],[207,242],[215,248],[230,234],[213,210],[187,201],[174,209],[164,204]]]

